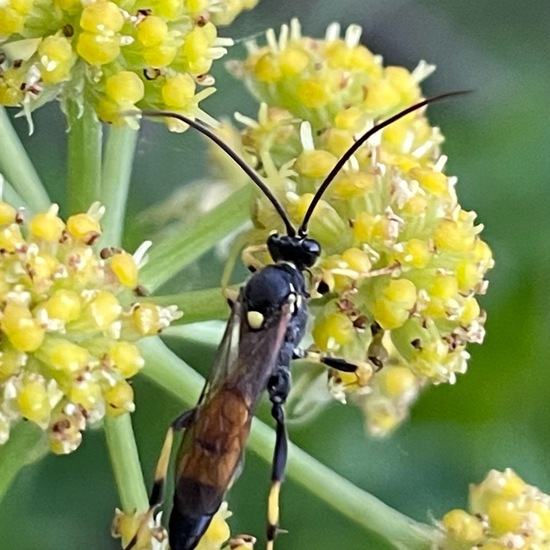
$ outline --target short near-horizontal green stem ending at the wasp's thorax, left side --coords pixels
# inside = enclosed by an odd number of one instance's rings
[[[181,294],[164,296],[148,296],[148,301],[162,306],[177,306],[183,311],[183,317],[174,321],[170,326],[199,323],[213,319],[227,319],[229,307],[221,288],[207,288],[205,290],[191,290]]]

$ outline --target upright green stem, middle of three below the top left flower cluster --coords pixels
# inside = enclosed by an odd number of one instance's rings
[[[101,122],[87,102],[69,102],[68,208],[86,212],[101,200]]]

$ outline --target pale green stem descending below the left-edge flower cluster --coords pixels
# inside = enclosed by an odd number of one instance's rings
[[[129,414],[105,418],[105,438],[111,457],[113,474],[125,513],[147,510],[147,490],[141,473]]]

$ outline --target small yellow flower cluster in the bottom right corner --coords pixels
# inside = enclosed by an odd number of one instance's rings
[[[440,527],[444,550],[550,548],[550,496],[510,469],[492,470],[470,488],[468,511],[451,510]]]

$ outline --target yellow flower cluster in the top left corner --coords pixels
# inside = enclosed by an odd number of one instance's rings
[[[90,103],[105,122],[123,123],[120,113],[135,106],[208,120],[198,104],[214,92],[213,60],[232,43],[218,37],[214,22],[255,3],[6,0],[0,105],[21,105],[28,114],[57,97]]]

